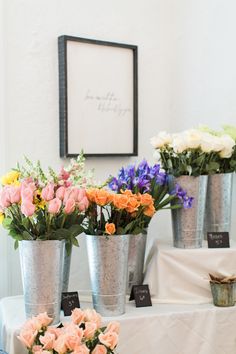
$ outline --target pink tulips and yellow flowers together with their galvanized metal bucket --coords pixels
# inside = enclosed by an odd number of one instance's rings
[[[26,161],[2,178],[0,217],[19,245],[26,316],[47,312],[58,323],[64,262],[78,246],[88,199],[68,178]]]

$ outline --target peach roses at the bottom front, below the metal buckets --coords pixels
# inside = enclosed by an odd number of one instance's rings
[[[72,311],[71,322],[50,327],[52,319],[41,313],[29,319],[18,339],[29,354],[112,354],[118,343],[120,325],[101,327],[101,316],[92,309]]]

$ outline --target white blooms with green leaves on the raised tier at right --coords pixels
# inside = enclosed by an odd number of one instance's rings
[[[151,139],[151,144],[162,167],[176,177],[236,170],[236,143],[226,133],[215,135],[200,129],[177,134],[160,132]]]

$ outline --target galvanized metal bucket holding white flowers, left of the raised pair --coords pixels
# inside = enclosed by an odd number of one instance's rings
[[[187,191],[188,196],[194,197],[191,208],[171,210],[174,247],[202,247],[207,177],[208,176],[171,176],[169,178],[170,191],[172,191],[175,188],[175,184],[178,183]]]

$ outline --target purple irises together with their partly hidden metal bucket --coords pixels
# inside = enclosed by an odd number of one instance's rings
[[[180,185],[169,189],[169,177],[159,164],[149,165],[143,160],[138,165],[122,167],[117,176],[108,180],[109,188],[117,193],[130,190],[138,195],[145,194],[147,199],[153,199],[154,210],[142,219],[142,224],[129,235],[129,256],[127,294],[133,285],[142,284],[143,266],[146,249],[148,225],[158,210],[189,208],[192,198],[187,196]],[[148,196],[147,196],[148,194]],[[148,200],[147,200],[148,201]]]

